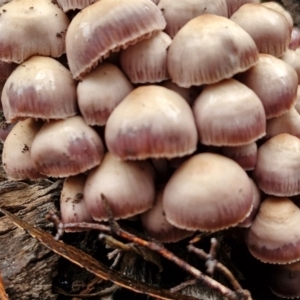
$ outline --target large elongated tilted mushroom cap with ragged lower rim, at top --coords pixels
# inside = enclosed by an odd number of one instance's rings
[[[150,0],[101,0],[86,7],[74,17],[66,35],[73,77],[81,79],[111,52],[149,38],[165,26],[161,11]]]

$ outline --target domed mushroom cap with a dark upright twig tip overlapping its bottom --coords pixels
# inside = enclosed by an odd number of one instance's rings
[[[106,153],[101,165],[89,173],[84,187],[87,208],[97,221],[108,219],[101,195],[116,219],[148,210],[155,197],[151,165],[146,161],[122,161]]]

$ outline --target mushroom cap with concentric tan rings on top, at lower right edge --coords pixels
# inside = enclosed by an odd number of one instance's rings
[[[265,263],[286,264],[300,259],[300,210],[288,198],[268,197],[259,208],[246,244]]]

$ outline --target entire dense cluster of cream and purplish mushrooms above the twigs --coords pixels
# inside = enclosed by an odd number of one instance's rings
[[[300,34],[258,2],[0,7],[8,177],[66,178],[63,222],[106,221],[105,196],[161,242],[245,227],[272,291],[300,297]]]

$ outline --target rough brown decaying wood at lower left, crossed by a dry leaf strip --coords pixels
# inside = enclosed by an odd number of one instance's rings
[[[0,176],[4,179],[4,175]],[[0,207],[18,213],[35,226],[51,229],[45,215],[54,209],[60,182],[43,180],[30,184],[0,182]],[[0,271],[10,300],[54,300],[52,279],[59,257],[5,216],[0,215]]]

